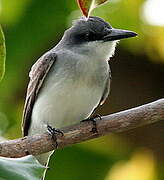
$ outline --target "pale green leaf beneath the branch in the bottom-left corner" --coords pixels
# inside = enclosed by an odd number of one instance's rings
[[[45,168],[34,158],[0,157],[0,179],[4,180],[39,180]]]

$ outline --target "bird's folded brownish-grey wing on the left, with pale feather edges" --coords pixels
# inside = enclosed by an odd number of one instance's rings
[[[29,73],[30,82],[27,88],[27,95],[22,118],[22,130],[24,136],[28,135],[28,130],[31,123],[32,109],[38,96],[39,90],[42,87],[44,79],[46,78],[50,68],[56,61],[56,58],[57,55],[54,52],[49,51],[38,59]]]

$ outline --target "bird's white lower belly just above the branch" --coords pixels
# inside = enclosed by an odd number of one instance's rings
[[[89,117],[102,93],[102,87],[88,86],[79,81],[45,86],[34,104],[29,134],[43,132],[48,124],[61,128]]]

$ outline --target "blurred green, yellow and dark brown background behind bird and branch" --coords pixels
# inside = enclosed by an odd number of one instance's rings
[[[32,64],[81,16],[75,0],[1,0],[6,74],[0,84],[0,136],[21,136]],[[164,96],[164,1],[110,0],[96,8],[112,26],[138,33],[110,61],[112,89],[98,113],[109,114]],[[53,160],[55,159],[55,161]],[[164,123],[111,134],[55,152],[47,180],[163,180]]]

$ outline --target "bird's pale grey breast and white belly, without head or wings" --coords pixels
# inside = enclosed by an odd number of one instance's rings
[[[108,77],[107,61],[84,56],[69,61],[69,55],[59,54],[49,72],[33,107],[29,134],[45,131],[47,124],[61,128],[78,123],[99,104]]]

